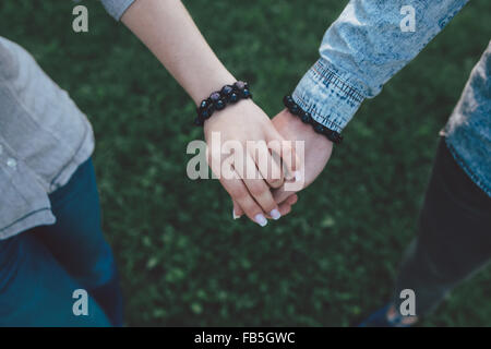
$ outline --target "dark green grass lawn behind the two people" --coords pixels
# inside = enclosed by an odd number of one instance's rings
[[[1,1],[0,35],[27,48],[94,125],[129,325],[345,326],[387,300],[438,132],[491,37],[490,2],[468,4],[363,104],[295,212],[267,228],[232,221],[217,181],[187,178],[185,146],[202,137],[191,100],[97,1],[83,3],[88,34],[72,32],[71,1]],[[274,116],[346,1],[185,3]],[[490,284],[486,269],[423,325],[491,326]]]

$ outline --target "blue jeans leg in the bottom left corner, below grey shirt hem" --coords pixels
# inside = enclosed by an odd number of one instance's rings
[[[74,315],[72,294],[83,288],[34,234],[0,241],[0,326],[110,326],[93,297],[88,315]]]

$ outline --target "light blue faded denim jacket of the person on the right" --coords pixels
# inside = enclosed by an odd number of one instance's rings
[[[465,0],[351,0],[324,35],[321,57],[292,97],[325,127],[340,132],[364,98],[410,60],[466,4]],[[405,5],[415,31],[403,31]],[[491,47],[491,46],[490,46]],[[442,134],[460,167],[491,195],[490,47],[472,71]]]

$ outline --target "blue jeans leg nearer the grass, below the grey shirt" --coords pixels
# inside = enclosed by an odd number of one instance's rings
[[[32,233],[95,298],[112,325],[122,326],[122,293],[112,251],[101,230],[92,160],[82,164],[69,183],[49,198],[57,222]]]

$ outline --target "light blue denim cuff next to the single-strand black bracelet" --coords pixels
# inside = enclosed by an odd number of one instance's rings
[[[291,97],[312,118],[342,132],[364,97],[325,59],[320,58],[300,80]]]

